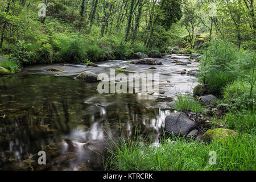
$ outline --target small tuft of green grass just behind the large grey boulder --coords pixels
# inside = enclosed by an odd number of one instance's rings
[[[194,100],[191,96],[179,94],[175,100],[174,109],[177,111],[190,110],[195,113],[203,111],[203,106],[199,101]]]

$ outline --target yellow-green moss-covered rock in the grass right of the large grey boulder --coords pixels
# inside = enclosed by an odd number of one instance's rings
[[[236,131],[229,130],[229,129],[213,129],[213,130],[207,130],[207,132],[204,133],[202,139],[204,142],[210,142],[212,140],[217,140],[219,142],[226,142],[228,139],[232,137],[236,137],[237,133]]]

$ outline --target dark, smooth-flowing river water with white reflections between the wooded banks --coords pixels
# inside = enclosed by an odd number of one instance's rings
[[[97,170],[104,169],[106,140],[133,137],[135,128],[150,133],[158,142],[164,119],[172,112],[168,103],[176,93],[191,94],[196,78],[175,71],[197,69],[174,60],[189,57],[167,55],[163,65],[129,64],[112,60],[98,67],[84,64],[33,65],[11,76],[0,77],[0,169]],[[134,59],[135,60],[135,59]],[[100,94],[96,83],[75,80],[83,71],[107,73],[121,67],[127,73],[159,73],[156,100],[139,94]],[[46,71],[61,69],[63,73]],[[134,127],[136,125],[136,127]],[[47,165],[38,165],[38,152],[45,151]]]

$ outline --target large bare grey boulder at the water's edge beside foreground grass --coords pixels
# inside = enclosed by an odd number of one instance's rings
[[[189,131],[195,129],[196,123],[188,118],[183,112],[172,113],[165,119],[165,129],[168,133],[181,137],[187,135]]]

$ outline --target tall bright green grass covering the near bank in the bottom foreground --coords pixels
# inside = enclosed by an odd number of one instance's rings
[[[255,170],[256,137],[237,135],[236,139],[220,143],[187,141],[176,138],[173,142],[163,139],[160,147],[138,138],[119,138],[114,143],[112,155],[106,159],[106,169],[112,170]],[[217,154],[216,164],[209,164],[209,152]]]

